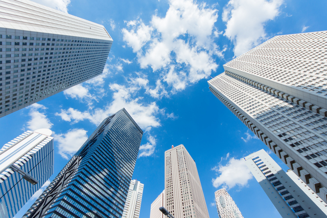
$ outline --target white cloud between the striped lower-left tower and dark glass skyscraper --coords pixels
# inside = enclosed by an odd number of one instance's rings
[[[58,148],[59,155],[68,160],[87,140],[87,131],[82,128],[75,128],[68,130],[65,134],[54,134]]]

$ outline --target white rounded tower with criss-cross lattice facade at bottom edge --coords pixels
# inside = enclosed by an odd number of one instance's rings
[[[243,218],[241,211],[226,189],[217,190],[215,192],[215,200],[219,218]]]

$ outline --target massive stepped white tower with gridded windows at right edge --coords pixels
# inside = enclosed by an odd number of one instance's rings
[[[224,65],[209,89],[327,202],[327,32],[275,36]]]

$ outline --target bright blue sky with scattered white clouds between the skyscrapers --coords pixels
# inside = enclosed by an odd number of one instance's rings
[[[35,2],[104,25],[113,44],[101,76],[1,118],[2,144],[51,128],[53,179],[97,125],[125,107],[144,130],[133,174],[145,185],[140,217],[149,217],[164,189],[165,150],[179,144],[197,164],[211,217],[218,217],[214,192],[222,187],[244,217],[280,217],[241,160],[267,146],[209,92],[207,80],[275,35],[326,30],[326,1]]]

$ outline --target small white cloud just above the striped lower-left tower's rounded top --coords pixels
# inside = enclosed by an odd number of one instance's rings
[[[51,128],[53,124],[50,122],[49,118],[46,117],[44,113],[39,112],[38,110],[47,109],[42,104],[34,103],[28,107],[30,109],[29,116],[31,119],[27,121],[27,128],[29,130],[37,130],[39,128]]]

